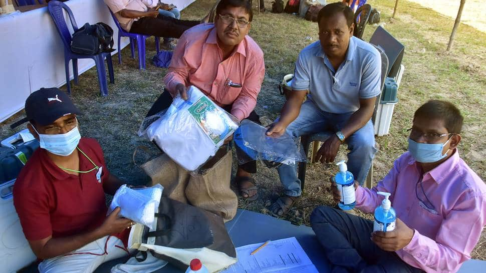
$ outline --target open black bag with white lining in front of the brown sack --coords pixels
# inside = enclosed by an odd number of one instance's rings
[[[156,229],[149,231],[143,226],[133,240],[141,240],[146,247],[144,251],[150,251],[154,257],[186,269],[193,255],[203,251],[205,254],[198,258],[203,264],[211,262],[206,265],[210,266],[210,272],[236,262],[236,250],[220,216],[167,197],[160,199],[155,216]],[[157,246],[164,247],[164,251],[157,251],[160,250]],[[196,248],[199,251],[194,251]]]

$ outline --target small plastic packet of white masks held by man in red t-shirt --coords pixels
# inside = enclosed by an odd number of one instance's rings
[[[116,207],[120,207],[119,216],[150,228],[155,213],[158,212],[163,189],[160,184],[146,188],[129,188],[122,185],[113,196],[107,215]]]

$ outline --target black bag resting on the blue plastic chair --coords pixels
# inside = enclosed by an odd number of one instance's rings
[[[95,25],[86,23],[73,33],[71,51],[78,54],[95,55],[114,51],[113,44],[113,29],[110,26],[101,22]]]

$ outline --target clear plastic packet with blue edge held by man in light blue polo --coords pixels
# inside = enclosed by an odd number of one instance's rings
[[[276,167],[277,163],[295,165],[307,160],[304,149],[297,138],[287,132],[280,137],[266,135],[267,128],[250,120],[244,120],[233,136],[238,146],[238,163],[262,160],[267,167]],[[244,153],[244,154],[242,154]]]

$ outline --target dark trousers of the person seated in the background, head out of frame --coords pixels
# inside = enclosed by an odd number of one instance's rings
[[[184,31],[196,25],[199,25],[199,21],[177,20],[158,15],[156,18],[142,17],[133,22],[130,32],[165,38],[180,38]]]

